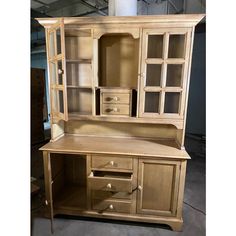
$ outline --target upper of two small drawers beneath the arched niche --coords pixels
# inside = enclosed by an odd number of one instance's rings
[[[113,103],[113,104],[130,104],[130,94],[129,93],[103,93],[102,94],[103,103]]]

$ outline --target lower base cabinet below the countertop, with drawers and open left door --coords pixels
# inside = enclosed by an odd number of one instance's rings
[[[66,214],[182,229],[184,159],[44,151],[44,171],[52,223]]]

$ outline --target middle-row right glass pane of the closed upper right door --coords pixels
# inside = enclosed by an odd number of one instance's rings
[[[166,86],[181,87],[182,65],[167,65]]]

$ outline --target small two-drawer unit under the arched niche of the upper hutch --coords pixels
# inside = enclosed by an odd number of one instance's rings
[[[131,89],[102,88],[100,101],[101,115],[131,116]]]

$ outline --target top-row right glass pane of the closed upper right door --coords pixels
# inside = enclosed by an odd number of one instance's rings
[[[171,34],[169,38],[168,58],[184,58],[184,34]]]

